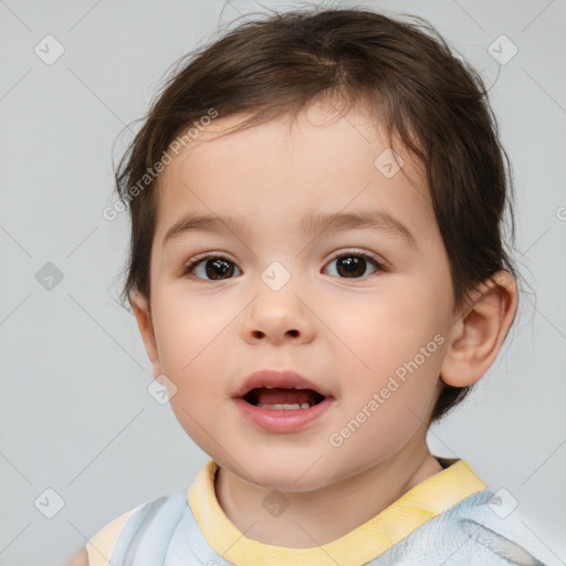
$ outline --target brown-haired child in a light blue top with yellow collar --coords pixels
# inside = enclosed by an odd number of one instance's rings
[[[116,175],[124,296],[211,460],[91,566],[543,564],[506,494],[426,442],[515,316],[505,160],[423,23],[275,14],[178,70]]]

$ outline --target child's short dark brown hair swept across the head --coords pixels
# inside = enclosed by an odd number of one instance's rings
[[[181,57],[158,93],[116,170],[132,214],[122,300],[150,296],[156,182],[128,187],[153,169],[177,136],[213,108],[220,117],[251,114],[237,129],[264,124],[333,96],[365,104],[422,164],[450,262],[454,310],[496,271],[517,276],[503,238],[505,205],[514,238],[511,166],[479,74],[455,57],[426,21],[363,9],[311,8],[262,14]],[[187,61],[188,59],[188,61]],[[470,387],[444,384],[430,422]]]

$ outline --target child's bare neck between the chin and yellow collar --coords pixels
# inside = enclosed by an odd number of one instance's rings
[[[363,525],[403,493],[442,471],[424,438],[413,438],[396,454],[347,479],[308,492],[283,492],[290,505],[258,521],[258,506],[271,489],[218,470],[218,502],[232,524],[264,544],[311,548],[328,544]],[[336,513],[339,510],[339,513]]]

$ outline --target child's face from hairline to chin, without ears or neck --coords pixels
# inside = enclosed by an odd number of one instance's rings
[[[391,177],[387,154],[375,165],[388,145],[367,117],[328,116],[315,106],[289,136],[281,119],[202,143],[242,116],[218,118],[167,166],[150,262],[155,346],[144,335],[155,375],[177,388],[174,411],[202,450],[244,480],[297,491],[401,449],[423,457],[454,321],[422,171],[401,154],[403,169]],[[312,212],[388,214],[412,240],[387,219],[303,233]],[[243,219],[242,230],[221,224],[164,242],[184,217],[201,214]],[[223,261],[184,275],[203,252]],[[326,410],[287,432],[252,423],[233,395],[260,369],[301,374],[329,394]]]

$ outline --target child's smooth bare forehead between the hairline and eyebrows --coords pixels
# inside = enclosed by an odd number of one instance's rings
[[[394,154],[366,112],[339,115],[332,105],[313,105],[294,124],[284,115],[219,137],[249,116],[213,119],[165,168],[156,235],[163,239],[188,212],[244,217],[284,209],[301,216],[298,222],[305,209],[381,205],[409,223],[434,223],[421,165],[398,143]]]

